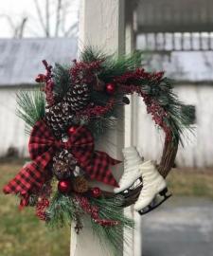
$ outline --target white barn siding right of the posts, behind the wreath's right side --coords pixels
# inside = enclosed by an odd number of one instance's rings
[[[181,101],[193,104],[196,109],[196,124],[192,133],[185,134],[185,146],[179,147],[176,164],[180,167],[213,166],[213,86],[180,84],[175,92]],[[147,115],[143,101],[138,108],[138,148],[145,159],[160,160],[164,135]]]

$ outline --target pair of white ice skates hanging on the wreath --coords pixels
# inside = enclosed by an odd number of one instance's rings
[[[119,188],[115,193],[127,194],[133,190],[138,180],[142,182],[142,190],[133,205],[133,209],[141,215],[154,210],[165,202],[171,194],[167,194],[167,183],[158,173],[153,162],[143,162],[135,147],[123,149],[124,173],[119,180]],[[160,201],[157,200],[163,196]]]

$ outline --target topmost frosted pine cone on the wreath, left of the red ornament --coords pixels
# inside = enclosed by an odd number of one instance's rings
[[[73,111],[80,111],[90,101],[90,89],[87,84],[74,84],[64,97]]]

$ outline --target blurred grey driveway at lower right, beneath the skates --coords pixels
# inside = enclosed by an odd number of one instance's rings
[[[142,225],[143,256],[213,256],[213,200],[171,197]]]

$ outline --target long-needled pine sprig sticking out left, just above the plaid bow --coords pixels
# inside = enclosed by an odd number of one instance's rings
[[[17,94],[17,104],[17,115],[26,122],[26,131],[29,134],[31,127],[33,127],[36,121],[44,118],[44,92],[40,89],[20,91]]]

